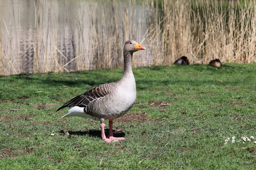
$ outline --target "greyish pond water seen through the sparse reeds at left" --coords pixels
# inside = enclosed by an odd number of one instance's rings
[[[2,1],[0,8],[2,58],[7,60],[2,64],[9,65],[9,74],[122,67],[124,42],[139,42],[145,33],[143,7],[135,3],[13,0]]]

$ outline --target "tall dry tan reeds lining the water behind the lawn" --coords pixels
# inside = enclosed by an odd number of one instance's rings
[[[130,39],[147,47],[134,67],[256,61],[256,0],[0,0],[0,11],[0,75],[121,68]]]

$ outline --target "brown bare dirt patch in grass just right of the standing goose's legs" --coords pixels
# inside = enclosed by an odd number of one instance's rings
[[[123,116],[122,118],[116,119],[115,122],[122,122],[122,123],[128,123],[128,122],[158,122],[160,119],[148,119],[147,115],[145,113],[139,114],[139,113],[129,113]]]

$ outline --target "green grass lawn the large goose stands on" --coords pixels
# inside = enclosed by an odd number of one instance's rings
[[[254,140],[231,142],[256,137],[256,63],[133,71],[136,103],[113,124],[126,139],[111,144],[99,122],[56,109],[122,69],[0,77],[0,169],[256,168]]]

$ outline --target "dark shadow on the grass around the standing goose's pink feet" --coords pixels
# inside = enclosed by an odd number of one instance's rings
[[[92,136],[92,137],[98,137],[102,138],[101,136],[101,130],[87,130],[87,131],[64,131],[61,130],[59,133],[65,133],[68,132],[70,135],[77,135],[77,136]],[[108,136],[109,129],[105,129],[105,135]],[[125,137],[125,133],[123,132],[116,132],[113,130],[113,136],[114,137]]]

